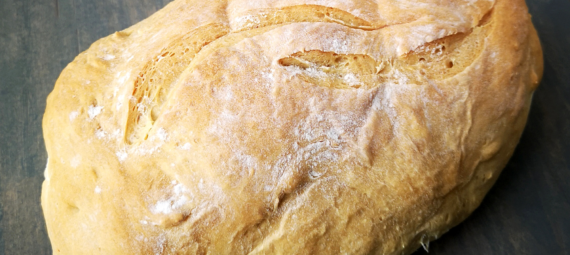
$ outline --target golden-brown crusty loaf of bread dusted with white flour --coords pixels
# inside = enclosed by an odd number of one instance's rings
[[[48,98],[54,254],[410,254],[481,203],[541,76],[523,0],[175,0]]]

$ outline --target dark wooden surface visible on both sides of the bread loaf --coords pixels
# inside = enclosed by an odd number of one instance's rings
[[[51,254],[41,120],[59,73],[168,2],[0,0],[0,255]],[[529,123],[481,207],[429,254],[570,254],[570,1],[527,2],[545,56]]]

